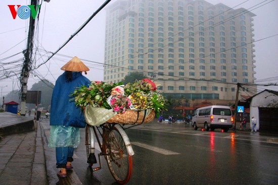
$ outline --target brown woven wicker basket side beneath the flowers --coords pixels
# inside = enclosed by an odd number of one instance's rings
[[[154,109],[145,109],[143,111],[126,110],[125,113],[118,113],[106,122],[115,124],[146,124],[155,117]]]

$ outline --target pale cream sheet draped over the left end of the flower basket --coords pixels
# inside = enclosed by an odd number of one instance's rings
[[[85,121],[91,126],[102,125],[116,114],[112,109],[93,107],[91,105],[87,105],[84,110]]]

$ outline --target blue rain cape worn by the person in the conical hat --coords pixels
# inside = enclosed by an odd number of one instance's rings
[[[69,94],[73,93],[76,87],[89,84],[90,81],[80,72],[72,72],[71,82],[66,82],[66,72],[57,79],[51,100],[51,126],[86,126],[83,112],[79,106],[75,106],[74,100],[69,101],[73,98]]]

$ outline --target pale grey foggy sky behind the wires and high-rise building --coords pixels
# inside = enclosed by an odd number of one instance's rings
[[[47,59],[47,56],[50,56],[50,54],[47,54],[44,50],[55,52],[59,46],[61,46],[104,2],[104,0],[51,0],[50,3],[42,2],[39,15],[39,25],[34,37],[34,48],[39,48],[36,52],[36,55],[41,55],[41,58],[37,61],[37,63],[41,64]],[[115,0],[112,0],[109,5],[111,5],[113,2],[115,2]],[[253,33],[255,34],[254,39],[256,41],[254,43],[254,49],[256,50],[256,81],[277,77],[275,81],[263,81],[264,83],[277,83],[278,65],[276,64],[276,58],[278,58],[278,35],[273,37],[270,36],[278,34],[278,0],[207,0],[207,2],[213,5],[223,3],[230,8],[236,7],[237,5],[246,2],[235,9],[245,8],[256,15],[253,17],[253,28],[255,30]],[[259,3],[262,4],[255,6]],[[26,4],[26,1],[22,0],[1,0],[0,59],[6,58],[18,52],[22,52],[26,48],[26,40],[23,40],[27,38],[28,33],[27,25],[29,19],[22,20],[17,17],[14,20],[7,5],[26,6],[29,5],[29,1],[27,1]],[[38,74],[40,78],[43,77],[55,84],[58,76],[63,73],[60,68],[71,59],[61,55],[68,55],[71,57],[77,56],[81,59],[96,61],[97,63],[104,63],[104,42],[105,11],[103,10],[95,18],[93,18],[86,25],[86,27],[81,30],[78,35],[76,35],[63,49],[58,52],[60,55],[54,55],[54,57],[50,59],[48,63],[35,70],[35,73]],[[36,58],[39,58],[38,56]],[[19,58],[23,58],[23,54],[17,55],[10,60]],[[3,62],[10,60],[8,59]],[[90,69],[86,77],[89,80],[102,81],[102,65],[90,63],[85,60],[83,61]],[[36,64],[36,66],[38,66],[38,64]],[[32,87],[32,84],[38,81],[39,78],[31,74],[27,84],[28,90]],[[14,84],[14,87],[12,87],[12,84]],[[6,85],[8,85],[8,87],[3,88],[3,95],[9,93],[12,91],[12,89],[19,89],[19,83],[16,78],[14,78],[14,80],[12,78],[8,78],[7,80],[0,81],[0,88]],[[278,89],[276,88],[274,90]]]

